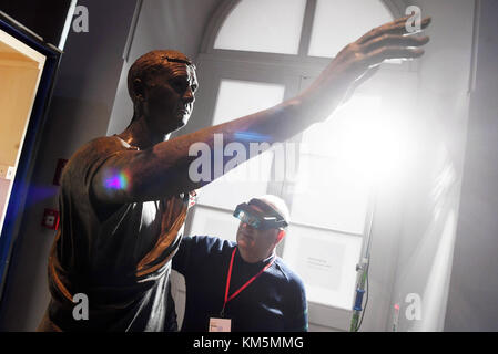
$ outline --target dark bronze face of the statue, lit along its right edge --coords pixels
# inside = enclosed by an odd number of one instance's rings
[[[145,85],[145,115],[155,132],[172,133],[183,127],[192,114],[197,79],[192,66],[167,63]]]

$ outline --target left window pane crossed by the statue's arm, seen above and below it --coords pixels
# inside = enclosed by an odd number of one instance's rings
[[[221,124],[272,107],[284,100],[285,87],[261,82],[222,80],[213,124]],[[227,153],[233,156],[233,153]],[[246,152],[246,156],[248,152]],[[240,202],[266,194],[271,150],[232,169],[200,190],[199,202],[233,210]]]

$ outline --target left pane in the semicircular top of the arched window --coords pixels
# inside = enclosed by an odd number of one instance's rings
[[[297,54],[306,0],[243,0],[223,23],[215,49]]]

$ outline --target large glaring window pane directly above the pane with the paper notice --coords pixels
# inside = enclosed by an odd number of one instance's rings
[[[380,102],[355,95],[333,117],[304,132],[293,221],[363,233],[376,160],[372,155],[379,144]]]

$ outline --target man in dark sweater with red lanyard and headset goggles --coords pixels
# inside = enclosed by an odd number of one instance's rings
[[[288,209],[275,196],[253,198],[235,209],[236,243],[186,237],[173,269],[185,277],[186,332],[302,332],[307,330],[301,278],[275,254]]]

